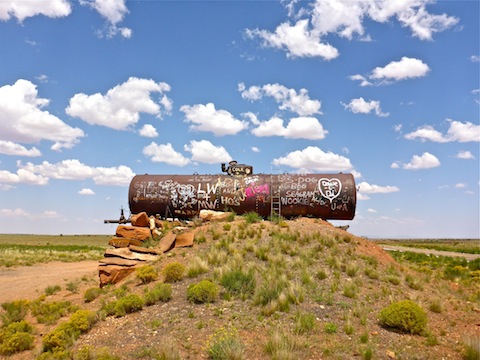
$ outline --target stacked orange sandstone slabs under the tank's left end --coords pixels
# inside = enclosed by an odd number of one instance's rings
[[[228,216],[230,213],[200,212],[203,221],[222,221]],[[105,251],[98,266],[100,287],[120,282],[138,267],[159,260],[162,254],[174,248],[193,246],[199,230],[188,226],[174,226],[167,230],[161,220],[149,217],[145,212],[132,215],[130,222],[131,225],[118,225],[115,236],[108,242],[112,248]],[[151,247],[152,243],[155,246]]]

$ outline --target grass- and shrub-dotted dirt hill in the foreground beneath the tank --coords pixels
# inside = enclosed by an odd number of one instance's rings
[[[316,219],[250,214],[196,225],[193,247],[170,251],[120,284],[99,289],[84,279],[71,291],[3,304],[0,352],[12,359],[478,357],[477,260],[395,260]]]

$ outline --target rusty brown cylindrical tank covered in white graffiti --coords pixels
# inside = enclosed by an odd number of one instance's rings
[[[268,217],[309,216],[352,220],[356,206],[351,174],[137,175],[128,193],[130,212],[193,218],[200,210],[255,211]]]

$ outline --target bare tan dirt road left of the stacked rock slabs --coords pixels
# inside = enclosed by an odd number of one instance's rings
[[[32,266],[0,268],[0,304],[6,301],[35,299],[45,293],[48,286],[98,279],[98,261],[76,263],[51,262]]]

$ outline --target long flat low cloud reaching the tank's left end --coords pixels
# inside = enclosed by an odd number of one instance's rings
[[[48,178],[61,180],[92,179],[97,185],[126,186],[135,176],[128,166],[91,167],[76,159],[63,160],[55,164],[43,161],[40,165],[34,165],[30,162],[23,165],[18,162],[17,166],[20,170],[38,174],[37,176],[45,177],[47,180]]]

